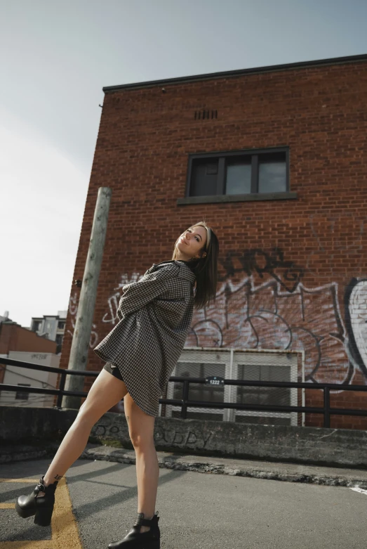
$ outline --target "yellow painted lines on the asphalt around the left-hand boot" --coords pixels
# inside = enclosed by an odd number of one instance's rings
[[[0,482],[36,481],[34,479],[0,479]],[[83,549],[65,478],[62,478],[58,483],[55,496],[55,507],[51,519],[51,540],[3,541],[1,549]],[[15,508],[15,503],[4,503],[3,505],[11,505],[12,508]]]

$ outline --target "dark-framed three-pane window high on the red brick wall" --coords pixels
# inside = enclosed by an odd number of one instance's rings
[[[286,193],[288,150],[192,155],[187,196]]]

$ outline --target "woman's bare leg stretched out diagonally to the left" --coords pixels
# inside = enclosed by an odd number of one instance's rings
[[[44,476],[46,486],[60,480],[84,451],[91,429],[104,413],[127,394],[123,381],[102,370],[81,405],[72,427],[65,435],[55,458]],[[41,496],[42,493],[39,495]]]

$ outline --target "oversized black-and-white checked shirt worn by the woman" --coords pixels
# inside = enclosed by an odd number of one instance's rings
[[[119,323],[95,354],[121,372],[129,394],[157,416],[159,397],[185,345],[194,310],[195,275],[184,261],[153,264],[122,288]]]

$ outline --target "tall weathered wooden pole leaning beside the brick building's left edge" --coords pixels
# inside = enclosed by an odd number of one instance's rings
[[[98,189],[91,240],[84,269],[83,283],[81,285],[78,311],[76,313],[69,366],[67,367],[68,370],[86,370],[111,195],[112,190],[108,187],[100,187]],[[84,380],[85,377],[83,375],[67,375],[65,390],[83,391]],[[64,396],[62,399],[62,408],[79,408],[80,403],[80,396]]]

